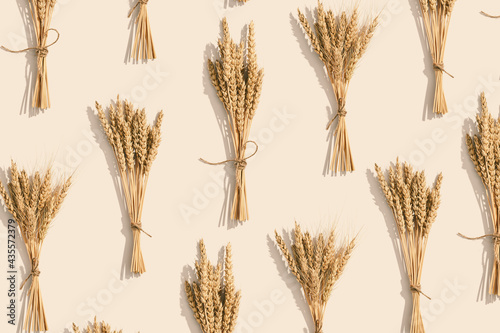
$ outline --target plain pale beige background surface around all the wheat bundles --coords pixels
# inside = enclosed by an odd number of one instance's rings
[[[48,58],[53,107],[35,117],[23,107],[33,53],[0,52],[1,179],[11,158],[28,168],[52,160],[58,169],[77,170],[42,253],[50,332],[94,315],[125,332],[200,332],[182,282],[192,273],[201,237],[214,261],[223,245],[233,244],[236,284],[243,292],[236,332],[309,332],[312,322],[298,284],[270,239],[274,229],[290,230],[294,219],[313,231],[336,221],[346,235],[360,231],[359,246],[327,307],[325,331],[405,331],[410,292],[394,248],[393,220],[372,174],[375,162],[386,167],[398,155],[425,168],[429,181],[440,171],[445,176],[422,280],[433,297],[422,300],[427,330],[496,329],[500,304],[485,294],[490,270],[483,266],[493,256],[491,241],[456,234],[489,231],[463,133],[477,112],[480,91],[487,92],[493,113],[500,105],[500,21],[479,14],[500,12],[499,6],[457,2],[445,57],[456,77],[445,77],[450,113],[429,119],[433,72],[416,24],[417,2],[360,1],[365,13],[381,11],[381,26],[348,94],[357,170],[331,177],[323,175],[323,166],[332,92],[296,21],[296,8],[315,1],[224,1],[150,1],[159,59],[140,65],[124,63],[128,1],[58,1],[53,27],[61,40]],[[19,11],[25,2],[3,1],[0,11],[1,43],[14,49],[26,47]],[[335,8],[340,3],[329,1]],[[252,126],[261,150],[247,169],[251,221],[237,228],[221,219],[224,167],[197,160],[227,157],[217,121],[223,111],[205,69],[224,15],[236,39],[255,21],[258,61],[266,71]],[[114,158],[93,109],[95,100],[109,103],[118,93],[146,107],[151,119],[160,109],[166,112],[144,207],[144,228],[153,238],[143,241],[148,271],[140,278],[126,274],[131,235],[117,197]],[[0,210],[0,272],[6,272],[9,216]],[[19,283],[27,261],[21,242],[18,248]],[[15,330],[6,324],[6,294],[1,279],[0,330],[10,333]]]

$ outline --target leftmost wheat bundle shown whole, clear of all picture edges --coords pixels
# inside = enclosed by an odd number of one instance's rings
[[[109,106],[109,119],[97,102],[96,109],[115,153],[129,212],[134,237],[131,271],[142,274],[146,271],[141,251],[141,231],[146,233],[142,229],[142,206],[149,172],[160,146],[163,111],[158,114],[156,124],[151,126],[147,124],[145,109],[134,109],[132,103],[122,102],[119,97],[116,108],[113,104]]]

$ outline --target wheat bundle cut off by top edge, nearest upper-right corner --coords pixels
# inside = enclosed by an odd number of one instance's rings
[[[456,0],[418,0],[422,12],[423,25],[429,42],[434,75],[436,77],[436,88],[434,92],[434,113],[448,113],[446,98],[443,90],[443,72],[450,75],[444,69],[444,49],[448,38],[451,12]],[[453,77],[452,75],[450,75]]]

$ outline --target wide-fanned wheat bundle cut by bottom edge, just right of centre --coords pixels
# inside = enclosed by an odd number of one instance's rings
[[[322,333],[326,303],[351,257],[356,238],[336,244],[337,235],[335,229],[331,228],[326,236],[320,233],[313,239],[308,231],[302,233],[300,226],[295,223],[290,253],[283,238],[278,232],[274,233],[288,267],[302,285],[315,332]]]

